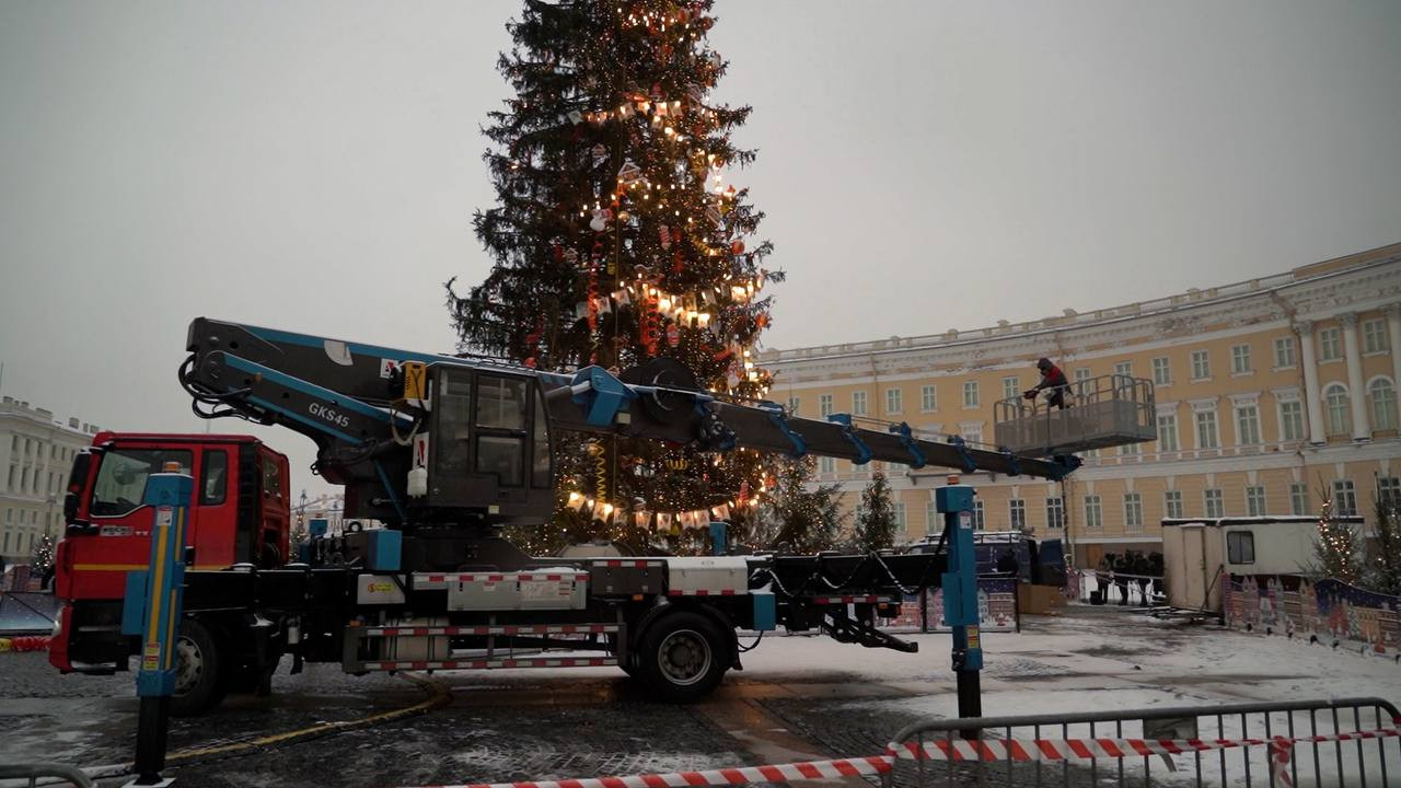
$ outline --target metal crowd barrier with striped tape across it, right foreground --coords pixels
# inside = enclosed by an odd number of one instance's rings
[[[941,719],[897,733],[881,784],[1387,787],[1398,726],[1381,698]]]

